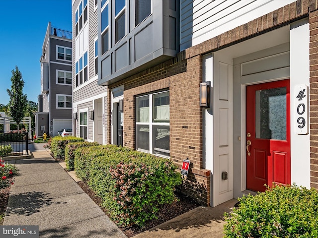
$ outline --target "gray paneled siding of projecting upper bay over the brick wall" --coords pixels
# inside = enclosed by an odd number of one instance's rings
[[[115,44],[114,7],[109,2],[110,50],[98,62],[98,84],[109,85],[179,52],[179,1],[152,0],[152,14],[135,27],[135,1],[127,1],[126,36]],[[100,12],[100,9],[98,9]],[[98,21],[101,21],[100,14]],[[101,33],[98,32],[101,42]],[[99,44],[100,45],[100,44]],[[98,54],[101,51],[98,49]]]

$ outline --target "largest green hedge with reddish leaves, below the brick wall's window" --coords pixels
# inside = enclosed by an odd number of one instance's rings
[[[180,173],[170,160],[114,145],[76,150],[77,176],[102,199],[120,226],[143,226],[159,208],[173,202]]]

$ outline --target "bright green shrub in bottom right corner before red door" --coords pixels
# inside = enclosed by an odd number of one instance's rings
[[[225,237],[318,237],[318,191],[273,184],[265,192],[239,199],[226,214]]]

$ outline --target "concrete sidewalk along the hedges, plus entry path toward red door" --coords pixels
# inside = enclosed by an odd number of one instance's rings
[[[12,160],[19,170],[3,225],[38,225],[41,238],[125,238],[103,211],[43,148],[32,159]],[[223,214],[237,203],[198,207],[134,238],[223,237]]]

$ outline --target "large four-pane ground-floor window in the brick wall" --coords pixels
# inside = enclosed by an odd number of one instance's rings
[[[151,154],[170,155],[169,92],[136,98],[136,149]]]

